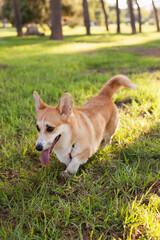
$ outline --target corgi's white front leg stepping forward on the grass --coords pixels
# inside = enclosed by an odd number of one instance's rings
[[[69,174],[75,174],[78,171],[79,166],[87,162],[89,155],[89,149],[85,149],[83,152],[74,156],[62,175],[68,176]]]

